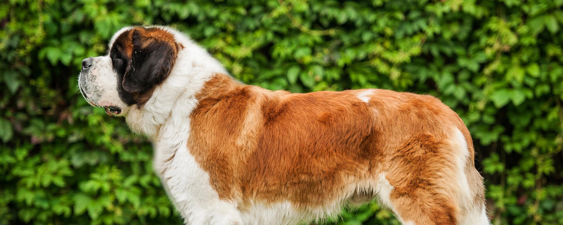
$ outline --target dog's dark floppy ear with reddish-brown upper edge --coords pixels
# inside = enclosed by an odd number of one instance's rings
[[[123,76],[127,92],[145,92],[158,85],[172,70],[177,46],[171,33],[160,28],[133,30],[131,61]]]

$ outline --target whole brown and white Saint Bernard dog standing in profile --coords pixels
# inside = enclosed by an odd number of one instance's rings
[[[245,85],[158,26],[119,30],[78,80],[153,142],[186,224],[302,224],[373,200],[403,224],[490,224],[471,135],[433,96]]]

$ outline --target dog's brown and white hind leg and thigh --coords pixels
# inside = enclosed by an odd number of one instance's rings
[[[406,140],[379,175],[378,196],[403,224],[490,224],[482,178],[462,133]]]

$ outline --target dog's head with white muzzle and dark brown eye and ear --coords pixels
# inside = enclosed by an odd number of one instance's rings
[[[165,27],[128,27],[111,38],[108,55],[82,61],[78,86],[88,103],[109,115],[142,107],[170,74],[181,45]]]

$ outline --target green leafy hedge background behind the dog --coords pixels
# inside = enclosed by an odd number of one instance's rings
[[[151,145],[77,90],[125,25],[189,34],[240,80],[432,94],[476,144],[494,224],[563,224],[563,0],[2,0],[0,224],[181,224]],[[375,203],[327,224],[398,224]]]

